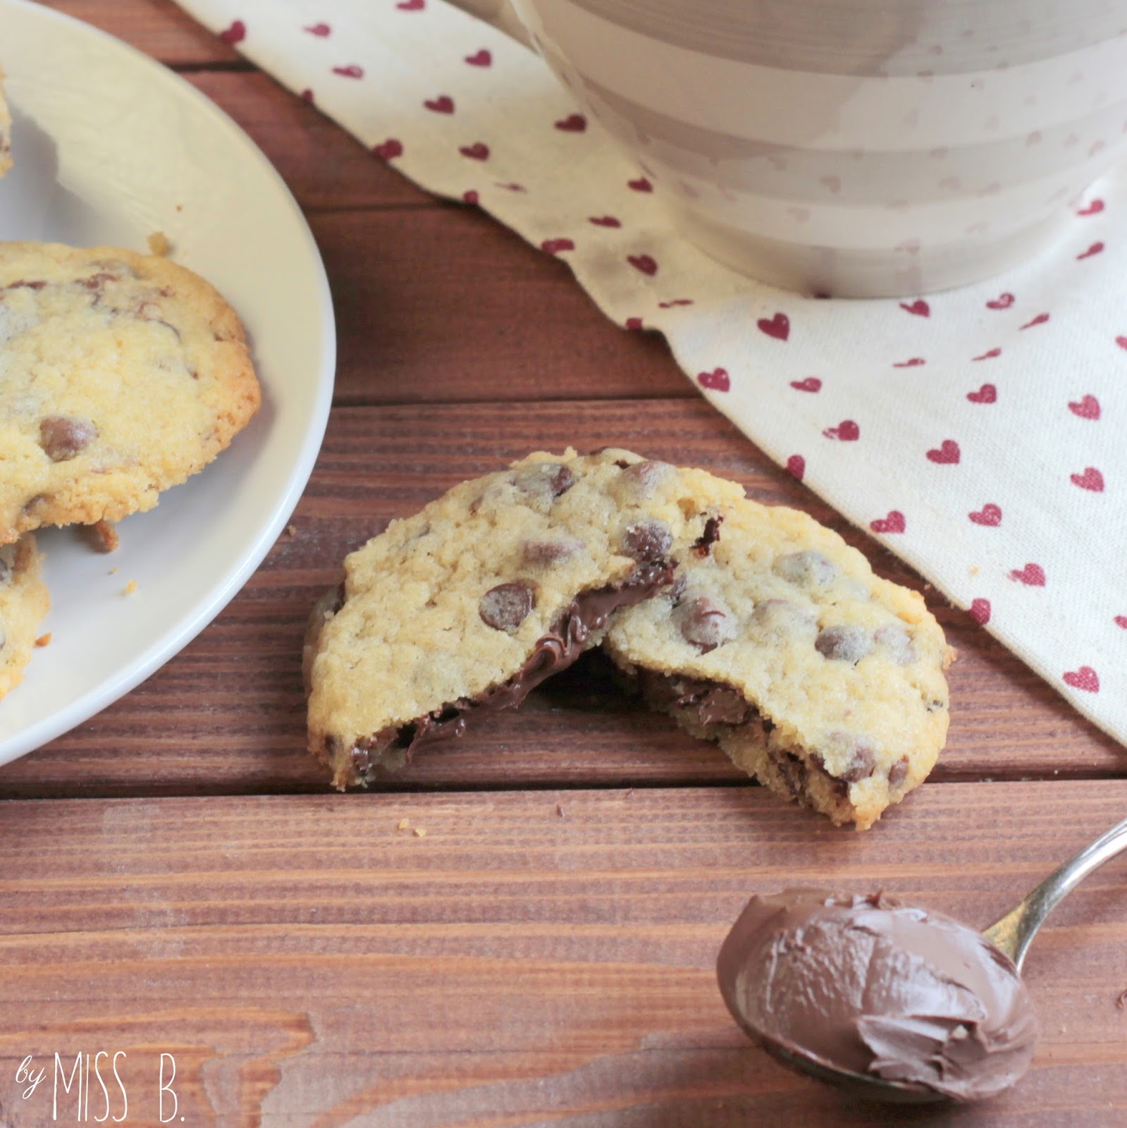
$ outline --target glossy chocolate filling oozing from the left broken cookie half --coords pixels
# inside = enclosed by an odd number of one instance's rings
[[[459,698],[406,724],[388,725],[358,740],[351,749],[353,767],[361,776],[367,775],[375,757],[393,748],[410,759],[421,746],[464,735],[472,716],[519,705],[542,681],[571,666],[583,653],[591,633],[607,625],[611,613],[640,603],[668,587],[676,566],[672,559],[640,564],[622,582],[576,596],[511,678],[478,697]]]

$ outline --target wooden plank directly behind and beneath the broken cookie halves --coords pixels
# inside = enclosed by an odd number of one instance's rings
[[[925,589],[907,567],[781,472],[699,398],[419,405],[334,412],[294,518],[296,535],[219,619],[148,682],[47,748],[0,768],[0,795],[320,790],[303,750],[307,609],[344,555],[393,517],[529,450],[628,443],[808,510],[877,571],[924,590],[959,650],[950,742],[934,779],[1121,775],[1122,748],[1027,667]],[[615,691],[597,664],[535,693],[517,713],[435,746],[393,788],[729,784],[727,758]]]

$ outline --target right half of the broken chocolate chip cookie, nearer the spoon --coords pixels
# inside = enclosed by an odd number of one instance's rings
[[[805,513],[743,499],[678,555],[668,593],[604,643],[652,706],[836,823],[865,829],[924,781],[953,651],[918,593]]]

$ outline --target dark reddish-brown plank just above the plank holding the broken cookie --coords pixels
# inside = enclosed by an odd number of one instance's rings
[[[340,404],[692,396],[664,341],[619,329],[566,265],[476,208],[315,214]]]

